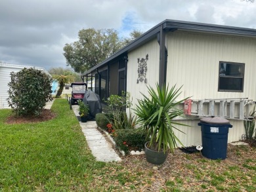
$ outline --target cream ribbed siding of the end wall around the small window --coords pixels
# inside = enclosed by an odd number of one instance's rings
[[[256,100],[256,40],[251,37],[175,31],[167,35],[167,83],[182,86],[179,99],[249,98]],[[245,64],[244,92],[218,92],[219,62]],[[180,121],[191,127],[177,132],[184,145],[201,144],[199,121]],[[228,142],[241,140],[243,121],[230,120]]]

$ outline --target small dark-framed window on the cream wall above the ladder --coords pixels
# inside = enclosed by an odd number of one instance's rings
[[[243,92],[244,64],[219,62],[219,91]]]

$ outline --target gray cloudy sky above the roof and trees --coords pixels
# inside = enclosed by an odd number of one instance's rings
[[[0,0],[0,61],[66,67],[63,47],[83,28],[127,37],[165,19],[256,29],[255,18],[246,0]]]

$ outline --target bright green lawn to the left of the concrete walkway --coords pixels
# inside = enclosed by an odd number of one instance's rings
[[[7,125],[11,110],[0,110],[0,191],[87,191],[92,171],[102,166],[91,155],[66,100],[56,100],[57,117],[43,123]]]

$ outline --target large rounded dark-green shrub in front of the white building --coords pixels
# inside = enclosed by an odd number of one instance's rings
[[[51,96],[51,77],[35,68],[11,72],[7,102],[15,115],[40,115]]]

